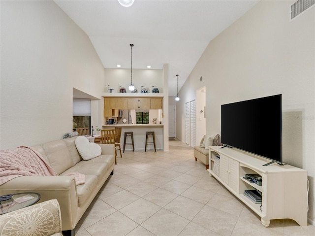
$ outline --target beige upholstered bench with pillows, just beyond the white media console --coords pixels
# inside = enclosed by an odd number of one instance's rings
[[[209,146],[221,146],[220,135],[204,135],[198,146],[193,147],[193,156],[209,169]]]

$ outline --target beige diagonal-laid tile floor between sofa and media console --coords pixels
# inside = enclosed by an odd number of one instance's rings
[[[192,148],[126,150],[76,227],[76,236],[314,236],[315,226],[272,220],[268,228],[231,195]]]

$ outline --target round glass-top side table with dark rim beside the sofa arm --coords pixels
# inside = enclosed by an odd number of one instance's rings
[[[38,193],[13,194],[12,198],[0,201],[0,215],[35,204],[39,199]]]

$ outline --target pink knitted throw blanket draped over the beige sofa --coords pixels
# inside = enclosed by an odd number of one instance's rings
[[[31,147],[20,146],[12,150],[0,151],[0,185],[19,176],[57,176],[41,155]],[[76,184],[85,183],[85,175],[68,173],[75,178]]]

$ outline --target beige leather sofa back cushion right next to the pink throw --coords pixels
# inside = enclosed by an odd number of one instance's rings
[[[73,166],[69,150],[63,140],[46,142],[41,146],[45,150],[51,167],[58,175]]]

